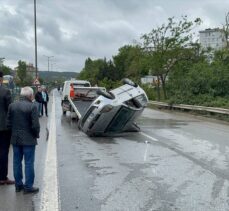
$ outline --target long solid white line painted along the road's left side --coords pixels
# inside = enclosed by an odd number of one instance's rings
[[[53,94],[52,113],[49,127],[49,139],[44,170],[44,189],[41,194],[41,211],[58,211],[60,208],[58,178],[57,178],[57,151],[56,151],[56,119],[55,97]]]

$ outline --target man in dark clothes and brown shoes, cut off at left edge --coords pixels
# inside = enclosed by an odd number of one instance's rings
[[[11,103],[10,90],[2,85],[3,73],[0,72],[0,185],[11,185],[14,181],[8,179],[8,154],[10,147],[10,131],[6,127],[6,116]]]

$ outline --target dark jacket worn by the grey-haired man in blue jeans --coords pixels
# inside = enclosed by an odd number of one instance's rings
[[[36,104],[25,97],[10,104],[7,128],[11,129],[11,144],[36,145],[40,133]]]

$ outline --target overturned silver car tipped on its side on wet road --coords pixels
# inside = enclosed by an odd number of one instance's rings
[[[79,128],[89,136],[110,136],[137,132],[136,118],[147,106],[145,91],[129,79],[109,92],[98,90],[99,97],[79,121]]]

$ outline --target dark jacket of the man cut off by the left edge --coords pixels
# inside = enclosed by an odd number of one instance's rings
[[[8,107],[11,103],[10,90],[0,85],[0,131],[7,130],[6,117]]]

